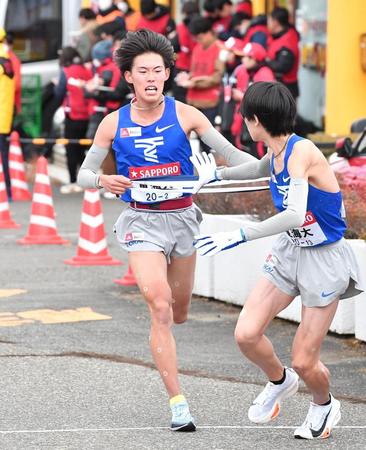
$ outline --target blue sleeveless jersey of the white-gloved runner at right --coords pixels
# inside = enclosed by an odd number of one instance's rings
[[[287,208],[290,184],[288,159],[294,144],[304,138],[293,134],[287,143],[284,169],[279,174],[274,171],[274,155],[271,158],[270,189],[276,209],[281,212]],[[309,193],[304,224],[286,232],[287,238],[299,247],[314,247],[338,241],[347,228],[341,192],[325,192],[309,184]]]

